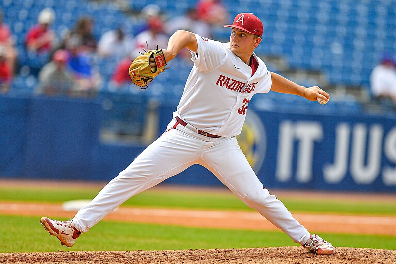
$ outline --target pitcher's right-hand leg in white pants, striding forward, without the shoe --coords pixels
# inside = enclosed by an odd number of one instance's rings
[[[276,227],[301,244],[309,239],[309,232],[257,178],[235,138],[210,148],[204,156],[212,171],[239,199],[255,209]]]

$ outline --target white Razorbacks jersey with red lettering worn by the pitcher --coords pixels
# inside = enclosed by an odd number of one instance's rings
[[[173,115],[210,134],[239,135],[252,96],[271,89],[271,74],[254,53],[258,68],[251,76],[251,67],[231,52],[230,43],[196,39],[198,54],[191,52],[194,66]]]

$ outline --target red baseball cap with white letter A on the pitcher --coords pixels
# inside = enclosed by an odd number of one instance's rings
[[[250,34],[262,36],[264,33],[263,22],[252,13],[240,13],[234,18],[232,25],[224,25],[229,28],[238,28]]]

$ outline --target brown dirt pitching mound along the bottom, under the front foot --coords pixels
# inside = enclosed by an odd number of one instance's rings
[[[332,256],[308,253],[302,247],[195,249],[158,251],[70,251],[1,253],[0,263],[150,263],[150,264],[394,264],[396,250],[336,248]]]

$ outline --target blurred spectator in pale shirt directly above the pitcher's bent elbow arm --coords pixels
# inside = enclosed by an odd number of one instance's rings
[[[210,26],[198,20],[197,10],[189,8],[182,16],[171,18],[165,23],[165,30],[168,35],[172,35],[178,29],[194,32],[199,36],[211,38]]]

